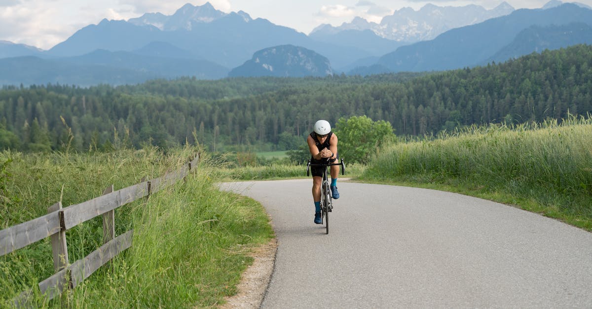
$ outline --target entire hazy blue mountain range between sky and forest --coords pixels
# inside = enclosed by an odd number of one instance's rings
[[[542,9],[519,10],[506,2],[490,10],[429,4],[419,11],[395,11],[379,24],[356,17],[339,27],[321,25],[307,36],[243,11],[227,14],[209,3],[186,4],[172,15],[102,20],[46,51],[0,41],[0,83],[87,86],[178,76],[218,79],[229,73],[321,76],[455,69],[589,43],[591,13],[583,4],[557,0]],[[301,55],[301,65],[278,62],[295,55]],[[276,69],[261,70],[263,63]],[[247,72],[249,67],[253,72]]]

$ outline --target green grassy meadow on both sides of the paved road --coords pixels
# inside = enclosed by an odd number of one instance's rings
[[[157,148],[110,153],[0,153],[0,228],[156,178],[198,149]],[[274,154],[275,155],[275,154]],[[286,158],[202,153],[185,182],[115,212],[116,233],[134,228],[133,246],[82,285],[34,307],[214,307],[236,292],[252,247],[274,237],[261,205],[218,191],[220,181],[306,178]],[[379,149],[367,165],[348,164],[354,181],[420,186],[515,205],[592,231],[592,120],[471,126],[439,136],[403,138]],[[70,262],[101,245],[100,218],[67,231]],[[0,257],[0,305],[53,274],[49,239]],[[35,291],[34,291],[35,292]]]

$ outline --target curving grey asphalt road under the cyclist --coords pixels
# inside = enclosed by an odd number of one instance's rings
[[[311,184],[223,185],[272,217],[262,308],[592,308],[592,233],[484,199],[339,182],[327,235]]]

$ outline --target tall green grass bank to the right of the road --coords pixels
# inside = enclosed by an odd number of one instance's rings
[[[592,120],[471,127],[385,147],[363,179],[433,182],[529,199],[592,229]]]

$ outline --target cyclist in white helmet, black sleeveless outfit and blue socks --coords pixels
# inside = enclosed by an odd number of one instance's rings
[[[333,163],[337,154],[337,136],[331,131],[329,121],[319,120],[314,124],[314,130],[307,137],[308,149],[310,149],[310,163]],[[313,199],[314,199],[314,223],[321,224],[321,184],[323,182],[323,168],[311,166],[313,173]],[[339,198],[337,191],[337,176],[339,165],[331,166],[331,196]]]

